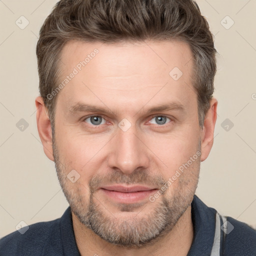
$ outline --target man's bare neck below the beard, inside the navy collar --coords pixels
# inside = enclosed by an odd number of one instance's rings
[[[103,240],[92,230],[84,226],[73,213],[72,221],[76,244],[81,256],[145,256],[148,255],[148,252],[151,255],[185,256],[193,239],[191,206],[186,209],[168,233],[157,239],[155,243],[141,248],[123,248]]]

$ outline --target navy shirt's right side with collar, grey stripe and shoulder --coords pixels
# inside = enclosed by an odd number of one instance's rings
[[[191,213],[195,232],[194,241],[199,244],[199,246],[193,245],[197,249],[193,252],[198,253],[198,248],[201,248],[202,244],[208,246],[210,240],[212,249],[220,250],[222,256],[256,256],[256,230],[248,224],[219,214],[216,209],[208,207],[196,195],[191,203]]]

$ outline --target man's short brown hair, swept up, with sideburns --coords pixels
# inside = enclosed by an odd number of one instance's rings
[[[216,59],[213,36],[193,0],[60,0],[44,21],[36,55],[39,91],[54,129],[60,54],[72,39],[114,43],[178,39],[193,53],[193,86],[197,93],[198,119],[204,115],[214,91]]]

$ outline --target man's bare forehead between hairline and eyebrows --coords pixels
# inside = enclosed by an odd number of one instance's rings
[[[112,44],[72,40],[61,52],[59,82],[72,72],[75,75],[58,96],[66,107],[92,98],[101,105],[111,101],[117,106],[118,100],[144,104],[150,98],[152,103],[163,99],[189,105],[189,98],[196,97],[191,59],[189,45],[177,40]]]

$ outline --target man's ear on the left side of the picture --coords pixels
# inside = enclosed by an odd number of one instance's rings
[[[43,151],[46,156],[54,161],[52,153],[52,134],[51,134],[51,125],[48,114],[46,113],[47,108],[43,103],[42,97],[38,96],[35,98],[36,106],[36,123],[39,133],[39,137],[42,142]]]

